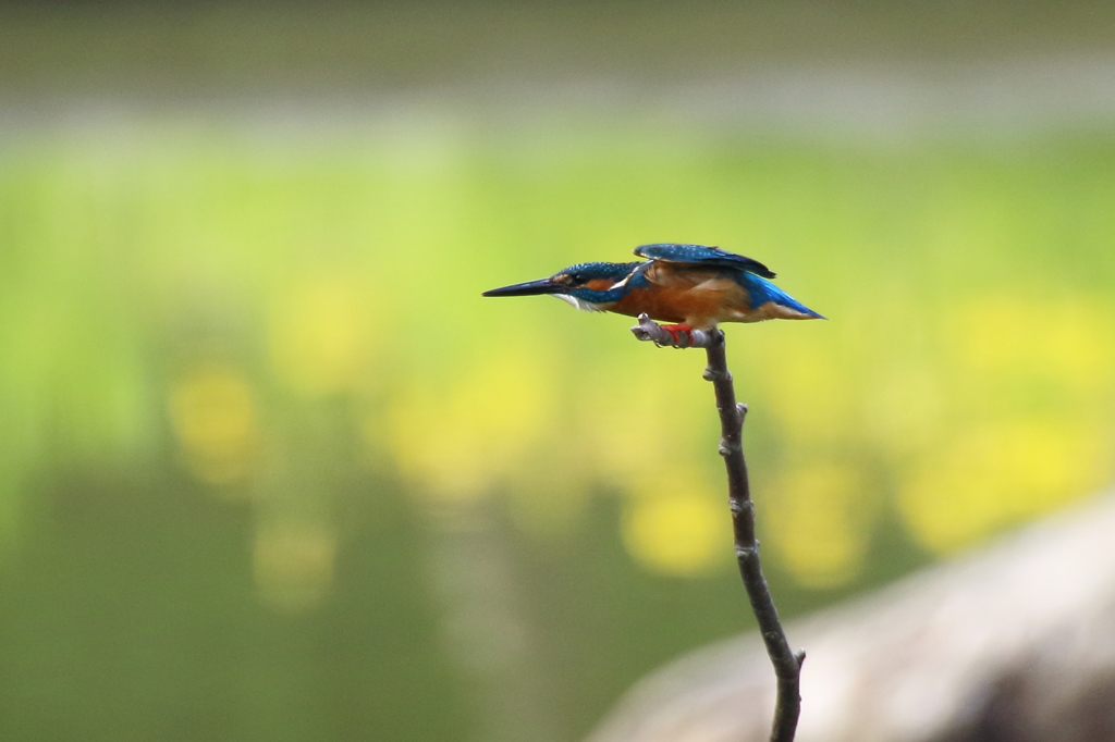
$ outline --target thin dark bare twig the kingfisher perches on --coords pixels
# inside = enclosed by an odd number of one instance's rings
[[[658,328],[656,334],[650,325]],[[639,316],[639,324],[631,328],[639,340],[653,340],[659,345],[688,348],[673,341],[673,336],[662,330],[646,314]],[[695,331],[696,334],[699,331]],[[797,730],[797,717],[802,711],[799,692],[802,662],[805,651],[796,653],[789,648],[786,633],[778,621],[770,590],[759,564],[759,543],[755,538],[755,507],[752,504],[750,485],[747,480],[747,462],[744,459],[744,418],[747,414],[746,404],[736,403],[736,390],[728,371],[728,360],[725,354],[724,333],[719,330],[702,332],[701,344],[708,353],[708,365],[705,379],[712,382],[716,390],[716,409],[720,412],[720,456],[724,457],[728,470],[728,506],[731,509],[731,526],[736,540],[736,562],[739,574],[744,578],[744,587],[752,603],[752,611],[758,619],[763,643],[766,645],[770,664],[774,665],[778,680],[778,700],[774,710],[774,724],[770,730],[770,742],[792,742]],[[665,338],[663,338],[665,335]],[[692,345],[697,345],[694,338]]]

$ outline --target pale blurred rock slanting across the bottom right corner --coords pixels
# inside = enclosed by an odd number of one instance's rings
[[[1115,496],[787,626],[797,740],[1115,740]],[[757,635],[637,685],[588,742],[766,740]]]

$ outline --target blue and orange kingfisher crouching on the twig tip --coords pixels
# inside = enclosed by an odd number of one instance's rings
[[[549,279],[485,291],[484,296],[550,294],[580,310],[648,314],[675,339],[720,322],[823,320],[774,285],[758,261],[719,247],[678,243],[640,245],[633,263],[578,263]]]

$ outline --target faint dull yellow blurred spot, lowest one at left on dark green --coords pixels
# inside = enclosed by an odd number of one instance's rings
[[[264,524],[256,528],[252,567],[260,598],[282,611],[321,603],[333,580],[337,537],[320,523]]]

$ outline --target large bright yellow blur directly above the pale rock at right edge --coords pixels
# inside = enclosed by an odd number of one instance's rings
[[[1049,512],[1106,484],[1109,432],[1058,420],[1017,420],[960,431],[908,477],[900,507],[914,537],[948,553]]]

